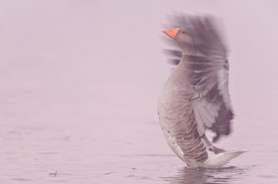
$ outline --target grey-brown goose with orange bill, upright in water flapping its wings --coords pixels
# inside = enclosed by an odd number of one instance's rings
[[[158,97],[158,118],[168,145],[188,167],[217,168],[247,149],[215,147],[213,142],[231,133],[234,118],[229,98],[229,63],[215,18],[189,15],[174,17],[179,26],[161,30],[181,51],[167,50],[179,59]],[[172,25],[172,26],[173,26]]]

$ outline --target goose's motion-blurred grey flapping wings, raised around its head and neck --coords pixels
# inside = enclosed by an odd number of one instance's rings
[[[206,128],[216,133],[213,141],[230,134],[230,121],[234,115],[229,100],[229,64],[224,46],[213,17],[193,17],[179,14],[170,17],[172,28],[186,28],[193,36],[197,55],[188,56],[191,85],[195,95],[191,99],[199,135]],[[181,50],[165,50],[172,55],[170,61],[179,64]]]

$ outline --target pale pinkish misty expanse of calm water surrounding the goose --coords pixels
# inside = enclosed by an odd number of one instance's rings
[[[173,10],[222,17],[233,133],[189,169],[161,131]],[[275,1],[0,1],[0,183],[278,183]],[[211,137],[211,135],[208,135]]]

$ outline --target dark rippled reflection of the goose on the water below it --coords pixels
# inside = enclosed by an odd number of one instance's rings
[[[179,169],[176,176],[163,177],[169,183],[201,184],[201,183],[233,183],[232,181],[246,176],[248,168],[222,167],[218,169],[188,168]]]

